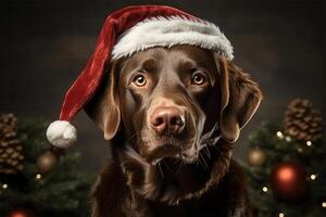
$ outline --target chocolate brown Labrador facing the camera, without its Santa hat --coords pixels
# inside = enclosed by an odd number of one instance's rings
[[[114,61],[87,113],[112,139],[93,217],[251,216],[231,157],[262,94],[217,53],[152,48]]]

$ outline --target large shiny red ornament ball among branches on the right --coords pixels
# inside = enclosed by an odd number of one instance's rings
[[[271,174],[272,189],[284,201],[298,201],[308,191],[304,167],[297,162],[277,164]]]

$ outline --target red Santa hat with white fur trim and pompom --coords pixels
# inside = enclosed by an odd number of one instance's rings
[[[233,60],[233,47],[214,24],[165,5],[137,5],[118,10],[105,20],[86,67],[66,92],[59,120],[50,124],[47,138],[67,148],[77,140],[70,120],[96,93],[110,61],[153,47],[192,44]]]

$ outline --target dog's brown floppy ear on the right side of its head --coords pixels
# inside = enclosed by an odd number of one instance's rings
[[[235,142],[240,129],[255,113],[262,93],[248,74],[225,58],[214,54],[221,79],[221,136]]]

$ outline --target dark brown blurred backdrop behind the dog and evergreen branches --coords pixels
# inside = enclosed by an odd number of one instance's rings
[[[251,73],[264,101],[235,152],[264,119],[281,120],[287,103],[309,98],[326,118],[326,5],[323,0],[1,1],[0,112],[55,119],[108,14],[130,4],[168,4],[217,24]],[[74,122],[80,169],[96,171],[108,156],[101,132],[82,112]]]

